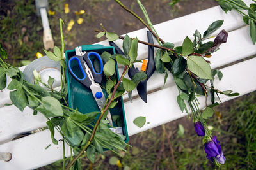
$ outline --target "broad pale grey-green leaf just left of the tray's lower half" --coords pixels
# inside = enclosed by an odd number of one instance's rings
[[[45,117],[63,116],[63,110],[60,102],[51,96],[41,98],[42,104],[36,108],[45,115]]]

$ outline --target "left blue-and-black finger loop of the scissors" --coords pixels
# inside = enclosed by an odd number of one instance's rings
[[[77,81],[85,85],[86,87],[90,87],[92,85],[92,81],[89,79],[88,75],[85,73],[84,61],[82,56],[74,56],[68,60],[68,71],[72,74]]]

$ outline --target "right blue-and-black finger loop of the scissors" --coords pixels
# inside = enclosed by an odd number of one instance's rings
[[[99,62],[100,62],[100,71],[99,73],[97,73],[95,71],[95,68],[93,66],[93,61],[92,61],[92,57],[95,56]],[[99,55],[99,53],[97,52],[87,52],[84,56],[83,56],[83,59],[85,60],[85,62],[87,63],[87,66],[90,68],[92,74],[93,74],[93,78],[94,78],[94,81],[96,83],[101,83],[102,81],[102,77],[103,77],[103,61]]]

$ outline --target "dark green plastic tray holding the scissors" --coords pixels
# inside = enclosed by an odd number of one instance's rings
[[[82,51],[86,52],[97,52],[101,55],[104,51],[109,52],[111,54],[115,54],[115,48],[112,46],[103,46],[103,45],[83,45],[81,46]],[[67,50],[65,52],[66,55],[66,66],[68,63],[68,59],[76,55],[74,50]],[[118,67],[116,64],[116,78],[119,80]],[[102,84],[105,85],[106,78],[103,76]],[[68,105],[70,108],[78,109],[81,113],[90,113],[93,111],[100,111],[91,90],[81,83],[77,81],[72,74],[67,69],[67,85],[68,85]],[[108,98],[108,93],[105,89],[102,89],[104,92],[104,96]],[[124,112],[124,103],[122,96],[119,97],[118,103],[115,108],[109,110],[111,113],[111,117],[113,119],[113,126],[122,127],[123,135],[126,136],[125,142],[129,141],[127,126],[125,122],[125,112]]]

